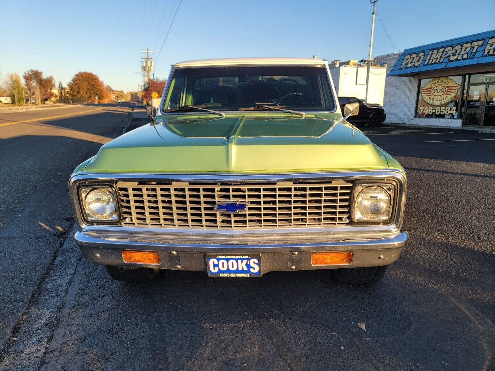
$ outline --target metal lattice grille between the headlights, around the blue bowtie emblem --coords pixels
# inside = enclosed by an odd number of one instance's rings
[[[117,182],[122,225],[170,228],[297,228],[346,225],[352,183],[263,184]],[[215,212],[219,202],[246,211]]]

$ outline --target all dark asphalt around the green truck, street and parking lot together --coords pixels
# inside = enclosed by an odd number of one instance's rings
[[[110,138],[124,113],[57,123]],[[99,142],[18,135],[17,125],[0,126],[0,313],[22,316],[2,327],[1,371],[495,369],[494,134],[363,129],[408,176],[410,240],[375,285],[326,271],[170,271],[126,284],[81,259],[72,232],[55,232],[71,225],[68,175]]]

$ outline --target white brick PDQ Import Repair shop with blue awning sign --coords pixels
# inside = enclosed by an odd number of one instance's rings
[[[495,128],[495,30],[380,57],[387,123]]]

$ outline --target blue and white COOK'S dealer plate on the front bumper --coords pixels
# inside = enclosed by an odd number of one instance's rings
[[[206,255],[208,276],[260,277],[261,255]]]

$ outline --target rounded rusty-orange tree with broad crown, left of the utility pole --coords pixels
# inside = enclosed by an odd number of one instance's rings
[[[109,98],[105,86],[97,75],[91,72],[79,72],[67,84],[67,96],[71,99],[82,99],[91,102]],[[96,99],[95,99],[96,97]]]

